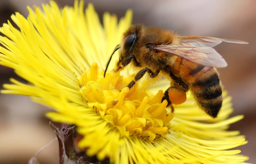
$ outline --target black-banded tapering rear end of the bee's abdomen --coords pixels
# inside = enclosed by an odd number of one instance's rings
[[[213,69],[204,73],[197,82],[192,84],[193,92],[198,105],[211,117],[217,117],[222,106],[222,89],[220,79]]]

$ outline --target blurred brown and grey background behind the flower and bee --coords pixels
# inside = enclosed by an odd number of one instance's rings
[[[59,6],[73,5],[73,0],[56,0]],[[89,1],[85,0],[85,5]],[[0,25],[18,11],[25,17],[26,6],[41,6],[48,0],[8,0],[0,2]],[[94,0],[102,17],[104,11],[119,18],[128,8],[133,10],[133,23],[172,29],[180,35],[212,36],[239,39],[249,45],[222,43],[216,50],[228,62],[219,69],[220,79],[233,97],[234,113],[244,119],[231,125],[240,130],[248,144],[240,146],[242,154],[256,162],[256,1],[254,0]],[[0,86],[17,77],[12,69],[0,66]],[[20,79],[21,80],[21,79]],[[0,163],[23,164],[54,137],[44,117],[47,107],[33,103],[28,97],[0,94]],[[38,156],[41,164],[57,164],[58,144],[53,142]]]

